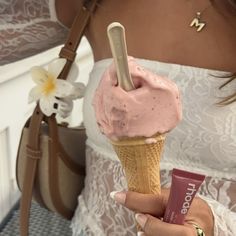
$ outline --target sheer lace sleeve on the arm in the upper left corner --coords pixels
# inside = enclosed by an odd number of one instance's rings
[[[55,0],[0,1],[0,65],[60,45],[66,33]]]

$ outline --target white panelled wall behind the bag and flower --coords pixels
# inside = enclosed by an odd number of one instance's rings
[[[15,181],[15,161],[21,129],[31,115],[34,104],[28,104],[28,93],[33,82],[28,73],[35,65],[47,65],[57,57],[61,47],[0,67],[0,222],[19,199]],[[89,44],[82,40],[76,62],[80,75],[77,81],[87,82],[93,58]],[[82,121],[82,101],[75,103],[72,126]]]

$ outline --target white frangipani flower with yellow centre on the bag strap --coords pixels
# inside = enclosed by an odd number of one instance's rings
[[[81,83],[72,82],[75,81],[78,75],[76,66],[72,65],[68,76],[70,81],[58,79],[65,63],[66,59],[59,58],[49,64],[48,70],[39,66],[35,66],[31,69],[31,76],[36,86],[30,91],[29,102],[39,100],[40,109],[47,116],[53,113],[58,113],[63,117],[68,116],[72,111],[72,100],[75,97],[81,97],[81,94],[83,94],[82,90],[79,91],[80,94],[77,94],[77,86],[74,86],[75,84],[80,84],[82,88]],[[57,109],[54,107],[55,104],[57,104]],[[67,109],[66,106],[68,106]],[[60,108],[62,111],[60,111]]]

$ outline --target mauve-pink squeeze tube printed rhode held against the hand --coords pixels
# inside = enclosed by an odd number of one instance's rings
[[[163,221],[182,225],[205,176],[173,169],[170,196]]]

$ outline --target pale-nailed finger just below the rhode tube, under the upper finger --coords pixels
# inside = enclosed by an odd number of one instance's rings
[[[136,214],[135,219],[148,236],[195,236],[191,226],[169,224],[148,214]]]

